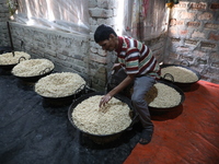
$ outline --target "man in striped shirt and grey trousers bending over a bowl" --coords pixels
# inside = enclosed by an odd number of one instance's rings
[[[152,51],[134,38],[117,36],[112,27],[104,24],[96,28],[94,39],[103,50],[115,50],[117,52],[118,63],[115,63],[113,69],[118,70],[123,67],[127,73],[127,77],[117,86],[102,97],[100,107],[104,106],[115,94],[134,83],[131,103],[139,114],[143,128],[139,143],[149,143],[153,133],[153,124],[150,119],[145,95],[153,86],[155,79],[160,78],[160,67],[152,56]]]

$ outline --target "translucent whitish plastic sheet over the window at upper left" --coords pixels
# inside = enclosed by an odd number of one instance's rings
[[[85,0],[18,0],[15,21],[66,32],[89,33],[88,1]]]

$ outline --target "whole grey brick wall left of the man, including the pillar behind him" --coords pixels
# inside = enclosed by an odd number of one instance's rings
[[[0,4],[8,14],[5,1],[1,0]],[[117,0],[90,0],[91,32],[90,35],[84,36],[10,22],[14,49],[24,50],[33,58],[48,58],[55,62],[56,71],[78,72],[87,81],[92,81],[93,89],[103,90],[115,56],[103,51],[94,42],[93,34],[102,23],[116,28],[116,12]],[[7,40],[4,42],[7,45],[10,45],[7,30],[8,19],[5,20],[5,15],[2,17],[4,19],[2,20],[4,30],[2,38]],[[0,45],[3,46],[3,42]]]

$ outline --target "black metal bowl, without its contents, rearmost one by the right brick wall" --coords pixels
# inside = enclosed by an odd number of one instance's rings
[[[176,86],[178,86],[181,90],[183,90],[185,92],[191,90],[191,85],[192,84],[194,84],[194,83],[196,83],[197,81],[200,80],[199,72],[197,72],[197,71],[195,71],[195,70],[193,70],[193,69],[191,69],[189,67],[186,67],[186,66],[181,66],[181,65],[161,65],[160,67],[161,67],[161,69],[166,68],[166,67],[181,67],[181,68],[184,68],[184,69],[187,69],[187,70],[194,72],[197,75],[197,80],[194,81],[194,82],[186,82],[186,83],[185,82],[176,82],[176,81],[174,81],[174,77],[171,73],[166,73],[166,74],[164,74],[164,77],[161,78],[161,80],[171,82],[171,83],[175,84]],[[166,77],[170,77],[171,80],[168,80]]]

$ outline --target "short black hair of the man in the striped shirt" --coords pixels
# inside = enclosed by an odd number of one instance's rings
[[[100,43],[102,40],[108,39],[111,34],[117,36],[116,32],[111,26],[102,24],[96,28],[94,33],[94,40]]]

